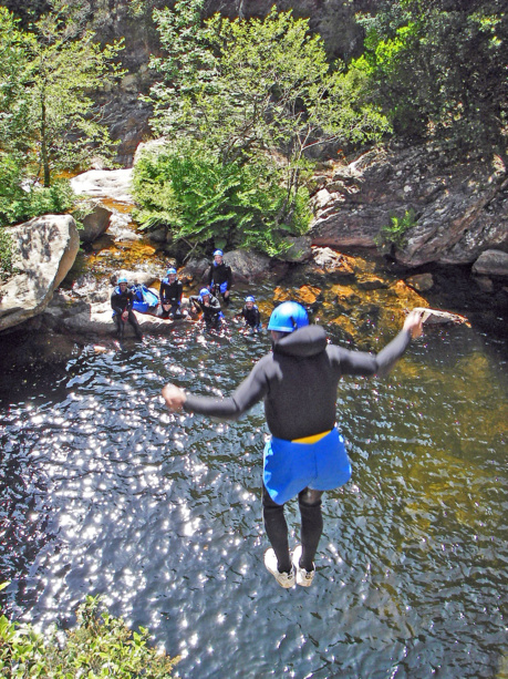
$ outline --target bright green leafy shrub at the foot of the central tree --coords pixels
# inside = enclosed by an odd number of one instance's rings
[[[205,146],[180,142],[145,154],[134,171],[134,194],[142,228],[166,226],[173,240],[190,247],[212,239],[217,247],[253,247],[270,256],[287,248],[288,235],[310,223],[309,196],[301,188],[286,223],[287,192],[265,158],[222,164]]]

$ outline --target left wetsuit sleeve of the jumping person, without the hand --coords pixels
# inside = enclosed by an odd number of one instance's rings
[[[195,397],[187,393],[184,410],[224,420],[237,420],[261,401],[267,393],[268,380],[263,370],[263,359],[261,359],[228,399]]]

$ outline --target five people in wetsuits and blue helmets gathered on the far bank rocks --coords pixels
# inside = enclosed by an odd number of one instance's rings
[[[224,305],[229,307],[231,301],[231,267],[224,261],[222,250],[217,249],[214,253],[214,261],[207,275],[207,287],[201,288],[198,295],[191,295],[189,297],[190,315],[195,316],[201,313],[207,330],[220,330],[224,313],[219,301],[219,295],[222,298]],[[183,282],[178,279],[176,269],[170,267],[160,281],[160,318],[180,319],[186,316],[186,311],[182,309],[183,295]],[[134,328],[136,337],[143,339],[139,323],[133,312],[134,301],[135,294],[128,288],[127,279],[125,277],[120,277],[117,286],[111,296],[111,306],[116,332],[121,339],[124,337],[127,322]],[[237,317],[243,318],[246,330],[255,332],[262,328],[261,316],[256,305],[256,298],[252,295],[246,297],[243,309]]]

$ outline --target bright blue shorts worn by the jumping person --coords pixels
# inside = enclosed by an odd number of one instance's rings
[[[265,446],[263,483],[277,504],[303,491],[331,491],[351,479],[344,439],[336,428],[315,443],[272,436]]]

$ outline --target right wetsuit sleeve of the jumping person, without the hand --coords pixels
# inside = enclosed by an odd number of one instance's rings
[[[354,375],[384,375],[394,367],[397,360],[402,357],[411,341],[411,332],[401,330],[401,332],[377,354],[366,353],[363,351],[346,351],[345,349],[336,349],[335,359],[340,362],[342,374]]]

